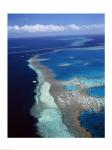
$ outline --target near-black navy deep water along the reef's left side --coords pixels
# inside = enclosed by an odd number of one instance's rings
[[[15,54],[8,59],[8,137],[37,137],[36,120],[30,115],[35,89],[32,81],[37,76],[27,67],[27,57]]]

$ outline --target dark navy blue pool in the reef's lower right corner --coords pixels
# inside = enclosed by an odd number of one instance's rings
[[[80,115],[81,124],[93,137],[104,137],[105,135],[105,114],[104,112],[85,111]]]

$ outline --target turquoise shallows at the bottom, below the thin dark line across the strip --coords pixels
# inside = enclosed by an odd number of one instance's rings
[[[72,137],[58,109],[44,109],[38,120],[37,127],[43,137]]]

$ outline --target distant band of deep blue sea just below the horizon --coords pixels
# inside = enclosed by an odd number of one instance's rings
[[[74,41],[79,41],[80,37],[93,38],[94,40],[86,42],[84,45],[71,46]],[[100,46],[104,43],[103,35],[87,35],[87,36],[60,36],[60,37],[37,37],[37,38],[11,38],[8,40],[9,51],[26,51],[31,49],[44,48],[66,48],[66,47],[91,47]],[[13,48],[12,48],[13,47]],[[14,48],[15,47],[15,48]]]

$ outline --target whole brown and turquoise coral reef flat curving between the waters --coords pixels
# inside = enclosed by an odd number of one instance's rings
[[[68,82],[56,80],[52,70],[41,64],[38,56],[29,59],[29,67],[37,73],[39,82],[35,89],[35,104],[31,114],[38,119],[36,127],[40,135],[91,137],[91,133],[81,126],[80,114],[88,110],[100,112],[104,107],[103,98],[88,95],[88,86],[78,78]],[[71,83],[78,88],[64,88]]]

